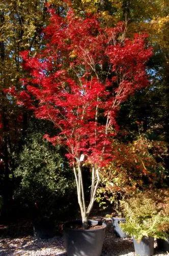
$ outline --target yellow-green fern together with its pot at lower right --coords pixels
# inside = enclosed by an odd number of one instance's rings
[[[148,193],[149,194],[149,193]],[[139,255],[153,255],[154,238],[166,239],[166,233],[159,226],[168,222],[158,211],[154,199],[146,193],[139,193],[127,201],[121,201],[126,222],[122,230],[133,237],[135,252]]]

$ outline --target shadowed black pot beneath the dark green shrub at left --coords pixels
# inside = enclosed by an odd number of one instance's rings
[[[48,218],[43,218],[41,220],[35,220],[34,226],[34,236],[40,239],[49,239],[55,236],[54,223]]]

